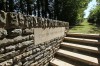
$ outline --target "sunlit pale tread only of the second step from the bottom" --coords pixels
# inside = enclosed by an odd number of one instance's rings
[[[65,57],[70,57],[71,59],[82,61],[88,64],[98,64],[97,58],[75,52],[70,52],[67,50],[59,49],[56,54],[64,55]]]

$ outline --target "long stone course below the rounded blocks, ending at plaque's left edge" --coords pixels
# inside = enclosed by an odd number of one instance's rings
[[[0,47],[14,45],[14,44],[21,43],[21,42],[27,41],[27,40],[32,40],[32,39],[33,39],[33,35],[18,36],[18,37],[15,37],[13,39],[4,38],[3,40],[0,40]]]

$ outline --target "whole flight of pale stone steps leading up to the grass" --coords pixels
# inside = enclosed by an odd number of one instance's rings
[[[67,34],[50,66],[100,66],[100,36]]]

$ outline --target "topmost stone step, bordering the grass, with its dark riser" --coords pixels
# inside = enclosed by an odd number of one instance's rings
[[[87,38],[87,39],[100,39],[99,34],[82,34],[82,33],[67,33],[67,37]]]

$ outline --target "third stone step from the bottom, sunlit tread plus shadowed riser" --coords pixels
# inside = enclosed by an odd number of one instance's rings
[[[63,42],[61,43],[61,48],[64,50],[70,50],[72,52],[82,53],[93,57],[100,57],[100,51],[96,47],[90,47],[84,45],[82,46],[82,45]]]

